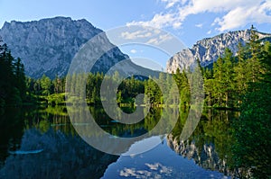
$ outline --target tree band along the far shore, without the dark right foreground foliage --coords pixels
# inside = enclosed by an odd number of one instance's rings
[[[73,74],[64,77],[56,76],[50,79],[43,75],[40,79],[33,79],[24,76],[23,64],[20,58],[14,59],[6,45],[1,46],[1,94],[2,105],[4,103],[21,102],[23,100],[38,99],[48,103],[65,103],[66,80],[70,82],[69,92],[75,93],[80,85],[82,76],[86,80],[86,99],[89,104],[99,104],[100,85],[105,81],[119,83],[118,72],[112,76],[105,76],[103,73],[88,75]],[[238,45],[237,54],[233,54],[230,49],[213,63],[212,67],[201,68],[204,82],[205,105],[209,107],[239,109],[244,101],[244,95],[248,93],[251,84],[257,83],[263,74],[268,72],[266,63],[263,60],[270,58],[270,43],[258,40],[257,31],[251,28],[250,40],[247,44]],[[2,69],[3,68],[3,69]],[[178,85],[182,107],[191,105],[191,80],[189,76],[192,69],[177,69],[173,74],[173,79]],[[162,93],[159,85],[167,86]],[[150,101],[145,98],[145,103],[163,104],[173,103],[173,98],[177,91],[171,90],[173,85],[171,75],[160,73],[158,77],[144,78],[130,76],[123,80],[118,86],[117,103],[135,103],[137,94],[147,94]],[[16,98],[20,98],[17,100]],[[165,102],[167,100],[167,102]],[[169,102],[172,100],[172,102]]]

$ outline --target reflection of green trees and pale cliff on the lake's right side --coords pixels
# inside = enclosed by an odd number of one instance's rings
[[[231,145],[234,141],[229,119],[236,119],[237,112],[205,111],[196,130],[187,140],[180,134],[187,113],[184,112],[173,132],[167,136],[168,146],[177,154],[203,168],[217,170],[225,175],[234,175],[230,170],[232,162]]]

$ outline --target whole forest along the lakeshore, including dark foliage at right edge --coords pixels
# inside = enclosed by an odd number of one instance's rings
[[[41,79],[24,76],[20,58],[14,59],[10,50],[1,41],[0,46],[0,107],[21,105],[24,103],[64,104],[65,85],[69,79],[69,93],[79,88],[82,75],[59,77],[51,80],[43,75]],[[201,67],[204,81],[204,104],[207,108],[235,110],[238,119],[232,121],[234,145],[232,147],[234,163],[232,167],[250,170],[254,177],[271,177],[271,44],[258,40],[257,31],[252,26],[250,40],[238,45],[238,53],[226,49],[212,67]],[[134,106],[137,94],[147,94],[149,104],[163,106],[175,95],[180,95],[182,109],[191,106],[191,85],[189,74],[192,69],[173,74],[179,88],[178,92],[169,90],[166,98],[152,78],[139,79],[136,76],[126,78],[117,89],[116,100],[119,105]],[[116,72],[113,76],[89,73],[85,97],[89,105],[101,105],[100,85],[104,80],[117,83]],[[172,85],[170,75],[161,73],[157,80],[160,84]],[[164,99],[167,99],[165,101]],[[146,100],[145,100],[146,102]],[[261,150],[260,153],[257,150]],[[256,155],[257,152],[257,155]],[[255,155],[254,155],[255,154]],[[259,156],[260,155],[260,156]]]

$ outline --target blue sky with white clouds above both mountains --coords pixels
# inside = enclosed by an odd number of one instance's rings
[[[248,29],[251,24],[258,31],[271,32],[270,0],[0,0],[0,8],[1,27],[5,21],[69,16],[87,19],[103,31],[150,25],[170,31],[187,47],[221,32]],[[154,58],[163,67],[169,58],[140,47],[121,49],[130,57]]]

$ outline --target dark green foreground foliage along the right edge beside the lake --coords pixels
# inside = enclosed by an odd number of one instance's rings
[[[259,45],[251,29],[248,43],[248,87],[235,121],[235,166],[251,170],[253,178],[270,178],[271,147],[271,45]],[[241,175],[241,177],[245,177]]]

